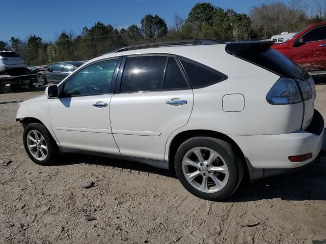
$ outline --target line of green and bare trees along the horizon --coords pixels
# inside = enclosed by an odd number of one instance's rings
[[[0,41],[0,50],[16,51],[25,58],[26,64],[36,66],[87,60],[120,46],[155,41],[195,38],[264,40],[281,32],[297,32],[309,23],[326,21],[326,0],[314,1],[317,13],[312,17],[304,11],[307,8],[304,0],[261,4],[253,7],[249,15],[210,3],[198,3],[187,18],[175,15],[170,27],[160,16],[147,14],[141,19],[140,26],[131,24],[117,29],[111,24],[97,22],[90,28],[85,26],[77,36],[63,32],[55,42],[44,42],[36,35],[26,40],[12,37],[8,42]]]

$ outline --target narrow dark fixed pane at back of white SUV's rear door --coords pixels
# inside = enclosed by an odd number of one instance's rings
[[[189,84],[183,76],[179,65],[174,57],[169,57],[166,70],[164,89],[187,89]]]

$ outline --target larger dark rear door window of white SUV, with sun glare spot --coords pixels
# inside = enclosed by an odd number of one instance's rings
[[[161,90],[166,56],[128,57],[121,80],[121,93]]]

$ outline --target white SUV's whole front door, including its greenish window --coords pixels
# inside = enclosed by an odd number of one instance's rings
[[[51,126],[62,147],[119,154],[109,112],[117,61],[97,62],[78,71],[51,101]]]

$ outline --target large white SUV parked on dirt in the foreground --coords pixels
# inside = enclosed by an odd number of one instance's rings
[[[208,200],[230,196],[245,172],[304,166],[323,139],[314,82],[271,44],[200,39],[94,58],[20,103],[26,153],[41,165],[74,152],[175,170]]]

